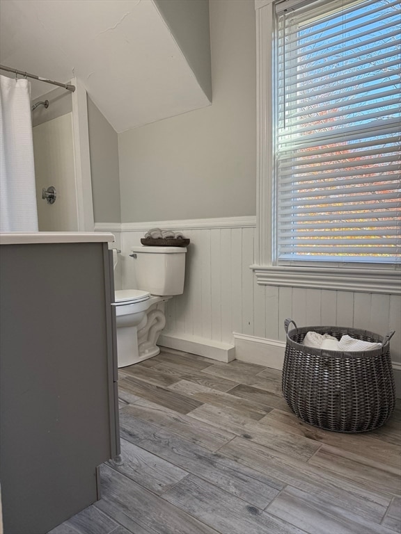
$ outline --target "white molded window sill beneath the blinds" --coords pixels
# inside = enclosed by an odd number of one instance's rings
[[[400,270],[252,265],[258,284],[401,295]]]

